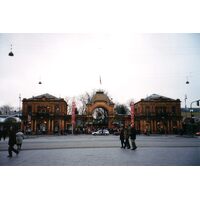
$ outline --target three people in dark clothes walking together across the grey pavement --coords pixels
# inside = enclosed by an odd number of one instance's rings
[[[128,125],[126,127],[121,127],[120,129],[120,141],[121,148],[127,148],[131,150],[136,150],[137,146],[135,143],[137,131],[133,125]]]

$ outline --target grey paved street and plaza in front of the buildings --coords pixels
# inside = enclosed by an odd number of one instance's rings
[[[8,140],[8,139],[7,139]],[[199,166],[200,138],[137,136],[138,149],[121,149],[119,136],[29,136],[19,155],[7,158],[0,141],[1,166]]]

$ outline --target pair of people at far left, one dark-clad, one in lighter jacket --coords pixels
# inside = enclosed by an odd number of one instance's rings
[[[8,157],[12,157],[12,152],[15,152],[17,155],[22,147],[22,141],[24,139],[23,133],[19,130],[17,133],[14,128],[11,126],[9,130],[9,140],[8,140]],[[17,145],[17,149],[14,146]]]

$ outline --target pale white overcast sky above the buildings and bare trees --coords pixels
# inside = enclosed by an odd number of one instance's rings
[[[187,94],[189,106],[200,99],[199,64],[200,34],[2,33],[0,106],[18,107],[19,94],[66,98],[99,88],[115,103],[159,94],[184,107]]]

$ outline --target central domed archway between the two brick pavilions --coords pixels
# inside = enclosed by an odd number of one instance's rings
[[[112,128],[114,105],[103,91],[97,91],[87,104],[87,124],[93,127]]]

